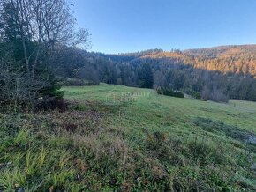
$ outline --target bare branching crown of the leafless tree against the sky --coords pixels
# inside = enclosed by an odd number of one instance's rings
[[[1,8],[2,35],[11,38],[6,29],[17,31],[15,38],[22,41],[26,71],[33,78],[40,56],[49,57],[57,44],[75,47],[87,43],[89,33],[86,29],[74,31],[75,18],[64,0],[3,0]]]

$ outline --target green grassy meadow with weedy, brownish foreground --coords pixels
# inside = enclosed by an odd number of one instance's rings
[[[0,191],[256,190],[256,103],[63,90],[64,113],[0,114]]]

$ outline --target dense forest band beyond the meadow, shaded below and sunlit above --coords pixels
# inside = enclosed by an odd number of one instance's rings
[[[183,52],[153,49],[118,55],[70,49],[63,55],[62,65],[56,70],[61,77],[86,78],[95,84],[104,82],[154,89],[161,86],[192,96],[200,94],[206,100],[256,101],[256,46]]]

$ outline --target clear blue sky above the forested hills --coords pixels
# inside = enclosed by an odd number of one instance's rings
[[[256,0],[73,0],[91,51],[256,43]]]

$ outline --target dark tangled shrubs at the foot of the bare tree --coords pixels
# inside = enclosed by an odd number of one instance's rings
[[[17,63],[15,63],[17,64]],[[14,64],[13,64],[14,65]],[[64,92],[49,72],[31,77],[22,68],[0,63],[0,104],[9,110],[32,109],[43,100],[63,100]],[[48,102],[49,103],[49,102]],[[36,104],[36,105],[34,105]],[[47,104],[47,103],[45,103]],[[49,108],[53,108],[52,103]]]

